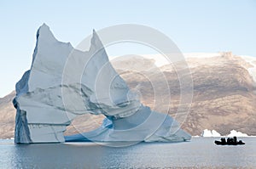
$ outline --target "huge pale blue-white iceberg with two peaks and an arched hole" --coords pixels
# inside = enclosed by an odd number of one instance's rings
[[[49,26],[37,32],[32,66],[16,84],[15,143],[66,141],[185,141],[191,136],[171,116],[143,106],[109,63],[93,32],[90,50],[55,39]],[[95,131],[64,138],[73,118],[106,115]]]

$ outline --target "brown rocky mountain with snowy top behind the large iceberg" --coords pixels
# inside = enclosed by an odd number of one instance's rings
[[[183,118],[177,119],[182,128],[192,135],[200,135],[206,128],[222,135],[229,134],[232,129],[256,135],[256,74],[253,73],[256,72],[256,59],[231,53],[185,54],[185,58],[191,74],[183,76],[192,76],[193,99],[188,103],[191,105],[189,113],[179,111],[184,113]],[[177,109],[181,99],[178,78],[181,77],[177,76],[172,64],[162,62],[151,56],[126,56],[112,60],[113,67],[143,104],[175,118],[180,116]],[[186,93],[189,85],[183,85],[183,97],[189,98],[189,92]],[[165,100],[158,102],[158,95]],[[14,97],[15,92],[12,92],[0,99],[0,138],[14,137],[15,108],[11,103]],[[102,115],[79,116],[67,127],[66,134],[90,131],[100,126],[103,118]]]

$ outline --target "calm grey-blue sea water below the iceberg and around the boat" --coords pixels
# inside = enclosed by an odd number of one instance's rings
[[[113,148],[93,143],[13,144],[0,140],[0,168],[256,168],[256,138],[218,146],[218,138],[190,142],[141,143]]]

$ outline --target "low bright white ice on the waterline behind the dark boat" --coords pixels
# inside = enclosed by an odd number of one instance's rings
[[[250,137],[248,136],[246,133],[242,133],[242,132],[237,132],[236,130],[231,130],[230,134],[228,134],[227,136],[221,136],[220,133],[216,132],[215,130],[208,130],[205,129],[202,133],[201,133],[201,137]],[[198,136],[196,136],[198,137]]]

